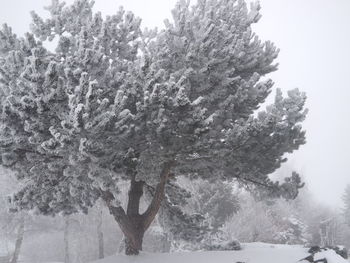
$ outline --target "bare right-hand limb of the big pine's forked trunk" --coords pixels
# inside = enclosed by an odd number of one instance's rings
[[[156,217],[159,208],[162,204],[162,201],[164,199],[164,191],[165,191],[165,185],[168,180],[170,170],[174,166],[175,161],[168,161],[163,164],[163,169],[160,174],[160,182],[158,183],[156,187],[156,191],[154,193],[153,199],[148,206],[145,213],[143,213],[142,217],[144,219],[144,230],[148,229],[148,227],[153,222],[154,218]]]

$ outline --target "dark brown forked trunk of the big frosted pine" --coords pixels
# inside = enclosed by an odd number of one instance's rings
[[[103,192],[102,198],[106,202],[110,213],[120,226],[125,237],[125,254],[137,255],[142,250],[143,237],[154,218],[156,217],[162,200],[164,199],[165,185],[174,161],[165,162],[160,174],[160,180],[155,189],[151,203],[143,214],[139,213],[140,200],[143,195],[143,181],[136,181],[135,175],[130,182],[127,210],[121,206],[114,206],[114,196],[110,192]]]

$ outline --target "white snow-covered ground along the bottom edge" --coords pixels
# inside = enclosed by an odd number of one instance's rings
[[[141,253],[139,256],[116,255],[94,263],[297,263],[309,254],[302,246],[244,244],[240,251],[202,251],[181,253]],[[324,251],[315,259],[327,258],[328,263],[348,263],[334,251]],[[305,261],[307,262],[307,261]]]

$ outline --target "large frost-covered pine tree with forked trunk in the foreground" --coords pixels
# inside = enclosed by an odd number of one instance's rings
[[[297,195],[297,174],[283,183],[269,174],[305,143],[306,96],[278,90],[257,112],[278,54],[251,30],[258,4],[180,1],[160,32],[142,31],[130,12],[103,18],[92,6],[53,0],[50,18],[32,13],[32,33],[0,32],[1,163],[25,184],[18,208],[71,214],[102,198],[126,253],[137,254],[165,189],[182,193],[177,175]],[[42,41],[53,39],[51,52]],[[130,182],[126,209],[121,180]],[[141,212],[145,185],[154,192]]]

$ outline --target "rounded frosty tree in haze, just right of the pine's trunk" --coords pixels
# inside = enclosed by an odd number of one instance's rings
[[[213,237],[222,234],[226,220],[238,211],[238,197],[232,185],[222,181],[179,177],[177,182],[186,191],[182,196],[188,198],[163,204],[158,218],[161,233],[171,250],[208,249]]]

